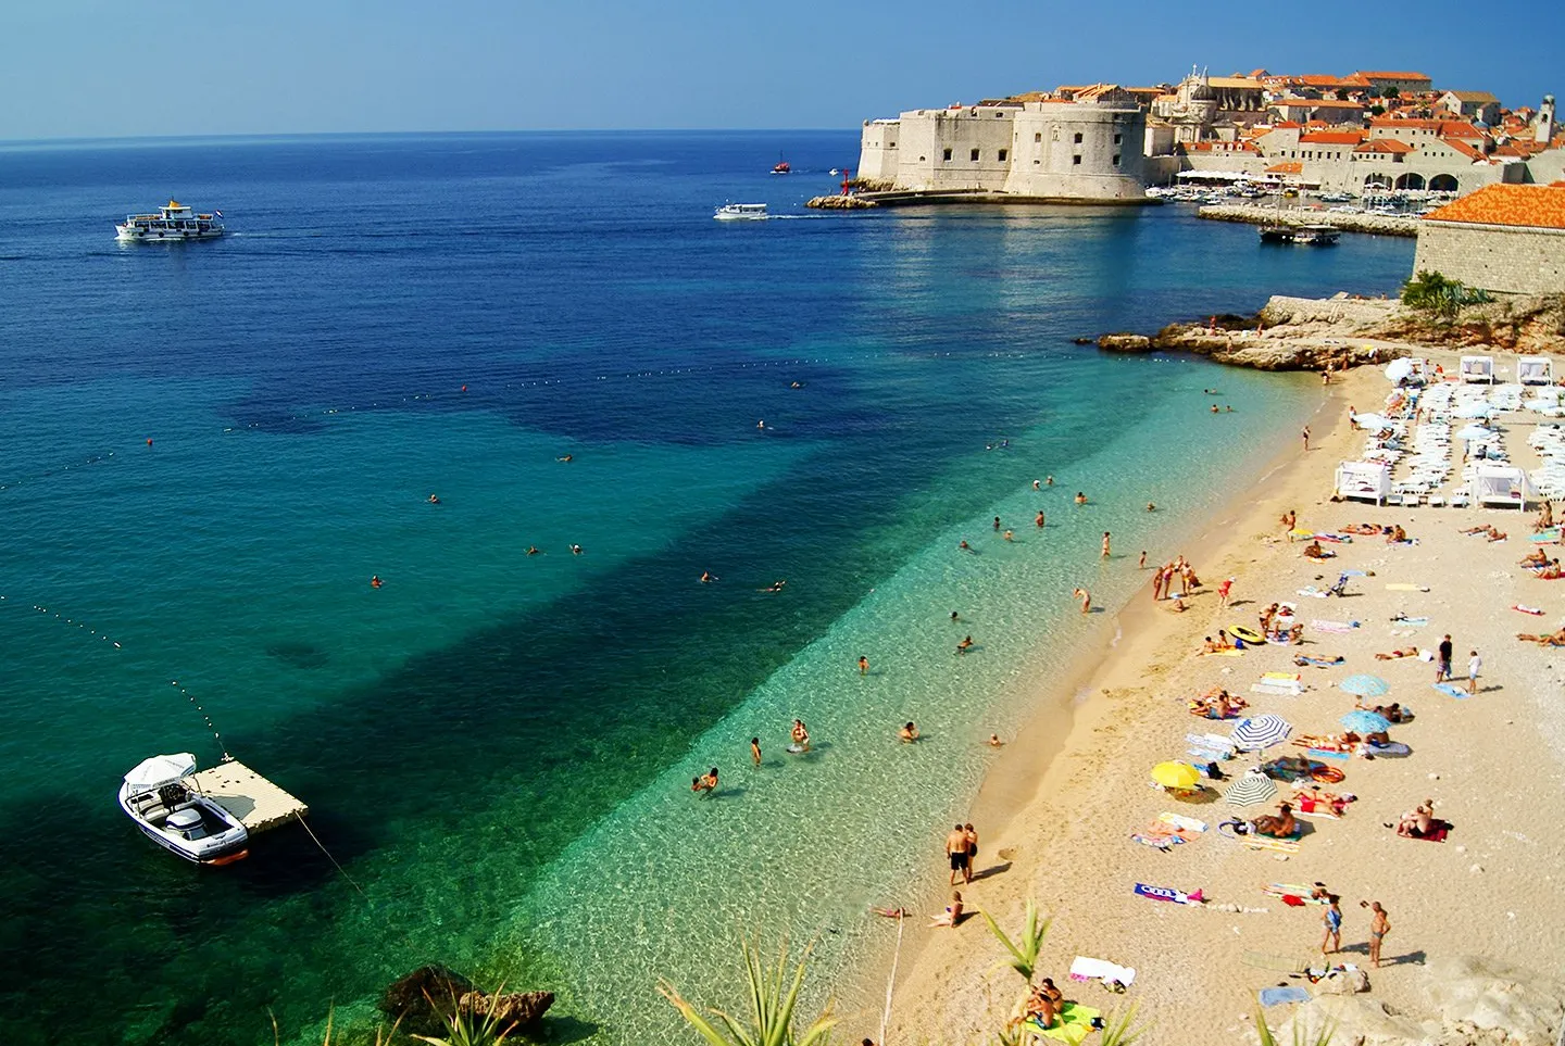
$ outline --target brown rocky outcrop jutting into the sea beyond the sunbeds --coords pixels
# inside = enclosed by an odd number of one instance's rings
[[[1432,316],[1396,300],[1275,296],[1255,316],[1169,324],[1155,335],[1110,333],[1105,352],[1189,352],[1257,371],[1324,371],[1385,363],[1415,347],[1565,353],[1565,296],[1510,297]]]

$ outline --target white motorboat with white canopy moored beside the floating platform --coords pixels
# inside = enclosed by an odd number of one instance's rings
[[[153,755],[125,774],[119,808],[149,840],[188,862],[230,865],[247,857],[249,830],[186,780],[194,772],[189,752]]]

